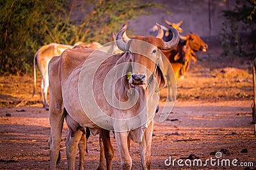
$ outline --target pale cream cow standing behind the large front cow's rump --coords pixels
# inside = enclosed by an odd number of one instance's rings
[[[76,45],[82,45],[87,48],[92,48],[92,49],[99,49],[104,52],[120,52],[116,51],[115,43],[109,43],[106,46],[102,46],[98,42],[93,42],[93,43],[84,43],[82,41],[79,41],[74,44]],[[58,44],[58,43],[51,43],[49,45],[44,45],[42,46],[35,54],[34,57],[34,89],[33,89],[33,96],[35,95],[36,92],[36,62],[38,65],[38,68],[41,73],[42,77],[42,82],[41,82],[41,89],[42,89],[42,97],[43,97],[43,105],[44,108],[48,109],[48,102],[47,102],[47,92],[48,92],[48,87],[49,87],[49,78],[48,78],[48,64],[49,61],[52,59],[54,56],[61,55],[61,53],[64,50],[67,50],[68,48],[72,48],[74,46],[71,45],[63,45],[63,44]]]

